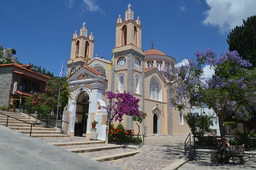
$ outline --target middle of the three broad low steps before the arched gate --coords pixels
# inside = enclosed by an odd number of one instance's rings
[[[100,147],[92,147],[92,148],[77,148],[77,149],[68,149],[70,152],[74,153],[84,153],[84,152],[96,152],[101,150],[110,150],[110,149],[118,149],[124,148],[122,145],[110,145],[110,146],[100,146]]]

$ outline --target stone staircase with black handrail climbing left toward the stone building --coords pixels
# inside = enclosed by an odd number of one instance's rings
[[[29,118],[25,114],[20,114],[16,112],[1,112],[1,113],[23,120],[28,123],[34,124],[35,126],[32,126],[31,137],[34,137],[34,138],[69,137],[68,135],[62,134],[60,130],[57,129],[57,131],[55,131],[55,128],[49,128],[49,126],[44,126],[42,122],[39,122],[38,120],[31,117]],[[6,126],[7,116],[3,114],[0,114],[0,125]],[[14,118],[11,118],[11,117],[8,118],[7,127],[12,130],[16,130],[20,133],[30,135],[31,125],[28,123],[16,120]]]

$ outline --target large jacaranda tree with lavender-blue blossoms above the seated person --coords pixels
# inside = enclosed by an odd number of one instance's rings
[[[236,51],[226,50],[217,56],[212,48],[206,48],[204,51],[196,50],[194,55],[196,58],[188,59],[186,64],[164,71],[170,80],[170,102],[179,110],[188,103],[213,108],[218,116],[220,135],[225,136],[225,115],[240,105],[244,108],[255,106],[255,70],[248,70],[251,64]],[[205,65],[214,70],[210,78],[204,78],[202,66]]]

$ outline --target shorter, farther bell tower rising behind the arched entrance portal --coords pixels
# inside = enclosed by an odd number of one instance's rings
[[[75,33],[73,34],[71,43],[71,54],[70,59],[67,64],[67,74],[70,72],[75,72],[78,68],[86,66],[88,60],[93,59],[94,50],[94,36],[91,34],[88,36],[88,30],[85,27],[85,22],[80,29],[79,36]]]

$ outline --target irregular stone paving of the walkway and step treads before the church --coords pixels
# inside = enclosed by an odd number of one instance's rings
[[[124,170],[161,170],[174,163],[175,161],[185,161],[184,155],[184,141],[187,135],[174,135],[174,136],[148,136],[146,137],[145,144],[139,150],[140,153],[118,160],[103,162],[116,168],[122,168]],[[72,138],[38,138],[48,143],[55,142],[85,142],[88,141],[82,137]],[[95,146],[106,146],[107,144],[93,144],[92,145],[78,145],[78,146],[62,146],[65,149],[73,148],[86,148]],[[114,145],[114,144],[108,144]],[[129,150],[130,151],[130,150]],[[88,158],[94,158],[97,156],[105,156],[110,154],[117,154],[121,152],[128,152],[127,149],[118,150],[104,150],[102,152],[83,153],[81,155]]]

